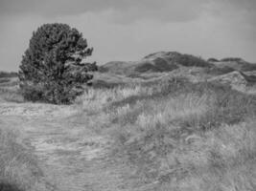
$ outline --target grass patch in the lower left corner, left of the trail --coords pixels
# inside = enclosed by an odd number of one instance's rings
[[[0,121],[0,188],[11,191],[45,190],[37,159],[23,136]]]

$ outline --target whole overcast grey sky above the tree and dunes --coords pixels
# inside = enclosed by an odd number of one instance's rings
[[[159,51],[256,62],[256,0],[0,0],[0,71],[18,71],[32,32],[67,23],[94,47],[90,60]]]

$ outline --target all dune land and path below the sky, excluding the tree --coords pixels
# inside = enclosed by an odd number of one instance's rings
[[[71,105],[0,77],[1,191],[256,190],[255,72],[163,52],[102,69]]]

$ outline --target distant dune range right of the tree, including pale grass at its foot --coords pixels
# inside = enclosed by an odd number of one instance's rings
[[[230,85],[239,91],[255,89],[256,64],[242,58],[227,57],[207,61],[177,52],[151,53],[139,61],[113,61],[99,67],[93,84],[97,87],[113,87],[118,84],[148,83],[182,76],[192,82],[213,81]],[[120,80],[121,79],[121,80]]]

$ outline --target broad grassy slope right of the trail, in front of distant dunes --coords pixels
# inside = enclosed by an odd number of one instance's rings
[[[116,140],[115,154],[141,186],[256,189],[256,96],[176,78],[148,87],[91,89],[77,102],[102,116]]]

